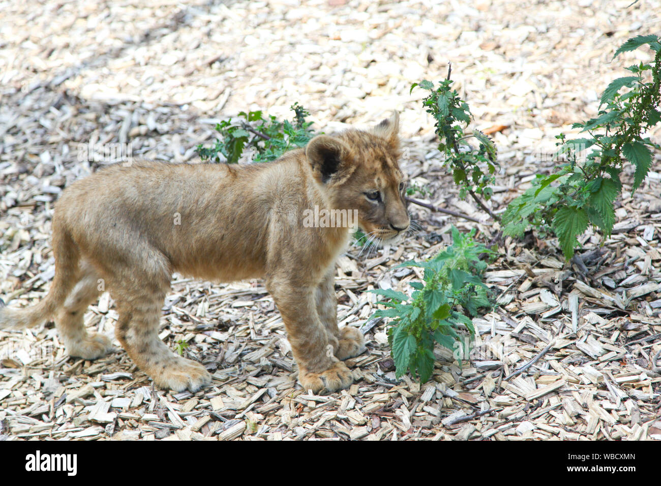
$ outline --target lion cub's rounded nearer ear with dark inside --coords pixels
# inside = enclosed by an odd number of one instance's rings
[[[312,172],[323,184],[344,182],[356,168],[351,163],[351,151],[341,140],[318,135],[307,144],[305,157]]]

